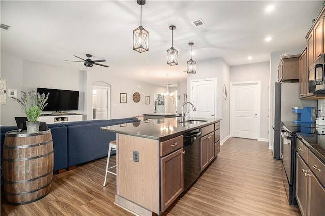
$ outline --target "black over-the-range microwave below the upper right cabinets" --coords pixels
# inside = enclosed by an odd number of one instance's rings
[[[321,54],[315,63],[309,66],[308,82],[310,93],[325,93],[325,80],[324,80],[324,68],[325,68],[325,54]]]

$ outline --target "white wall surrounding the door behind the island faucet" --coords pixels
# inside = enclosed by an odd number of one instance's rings
[[[221,143],[229,137],[229,100],[223,101],[223,84],[229,87],[229,65],[223,58],[213,58],[197,61],[197,73],[187,75],[187,98],[190,98],[191,80],[217,78],[217,114],[216,118],[222,118],[220,122]],[[195,105],[195,104],[194,104]]]

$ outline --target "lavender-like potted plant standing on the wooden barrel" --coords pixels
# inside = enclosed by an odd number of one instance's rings
[[[44,107],[47,105],[46,100],[50,93],[45,95],[36,92],[35,90],[24,92],[21,91],[21,99],[13,97],[25,111],[28,121],[26,122],[27,133],[38,133],[40,122],[37,121]]]

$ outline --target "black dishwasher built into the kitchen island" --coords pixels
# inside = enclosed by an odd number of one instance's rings
[[[200,176],[200,129],[184,135],[184,191]]]

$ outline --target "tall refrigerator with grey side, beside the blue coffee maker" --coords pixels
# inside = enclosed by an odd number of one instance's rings
[[[274,121],[272,122],[271,131],[273,143],[273,157],[282,159],[281,152],[281,121],[297,120],[297,113],[293,113],[293,107],[316,107],[316,101],[301,100],[299,98],[299,83],[275,83],[273,90],[273,107],[272,111]]]

